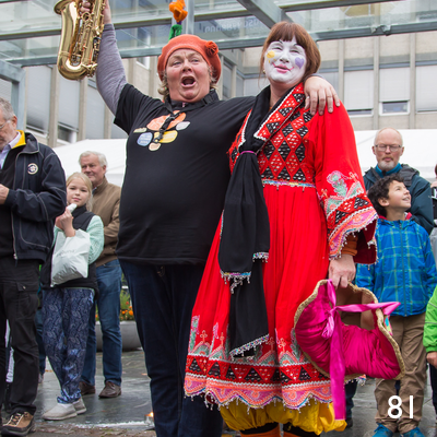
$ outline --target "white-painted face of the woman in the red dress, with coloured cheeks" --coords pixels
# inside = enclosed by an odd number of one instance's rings
[[[264,55],[264,71],[270,82],[297,85],[305,75],[307,56],[293,37],[291,42],[270,43]]]

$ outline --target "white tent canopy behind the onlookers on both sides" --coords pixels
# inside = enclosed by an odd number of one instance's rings
[[[371,152],[376,132],[375,130],[355,132],[363,173],[376,164]],[[405,146],[401,163],[420,170],[425,179],[434,180],[434,167],[437,164],[437,129],[411,129],[400,132]],[[67,176],[80,172],[79,155],[85,151],[104,153],[108,162],[106,177],[109,182],[121,186],[126,167],[126,140],[84,140],[56,147],[55,152],[61,160]]]

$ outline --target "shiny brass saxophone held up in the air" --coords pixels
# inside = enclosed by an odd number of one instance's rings
[[[93,76],[104,27],[104,0],[88,0],[90,12],[79,11],[82,0],[60,0],[55,12],[62,16],[61,40],[58,51],[58,70],[66,79],[80,80]]]

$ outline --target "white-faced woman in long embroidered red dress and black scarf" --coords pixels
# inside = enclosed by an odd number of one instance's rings
[[[344,429],[330,380],[300,351],[297,307],[354,262],[376,259],[367,199],[345,108],[312,116],[303,81],[319,50],[298,24],[264,43],[269,79],[228,151],[232,178],[192,311],[185,391],[216,403],[244,436],[316,436]]]

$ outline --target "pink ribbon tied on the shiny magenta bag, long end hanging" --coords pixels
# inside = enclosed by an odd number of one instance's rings
[[[354,304],[335,306],[335,288],[331,280],[327,281],[328,299],[332,308],[328,310],[327,326],[323,329],[323,339],[331,339],[330,344],[330,365],[329,373],[331,376],[331,392],[334,406],[335,420],[345,420],[346,404],[344,393],[344,376],[346,367],[343,353],[343,333],[341,330],[341,318],[338,310],[347,312],[362,312],[371,309],[381,309],[385,316],[389,316],[399,305],[398,302],[388,302],[380,304]]]

